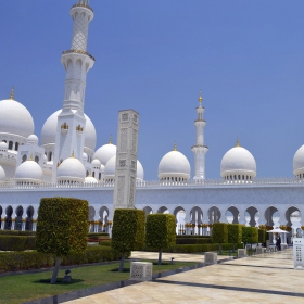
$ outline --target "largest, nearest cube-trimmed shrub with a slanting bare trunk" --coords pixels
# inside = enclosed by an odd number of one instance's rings
[[[88,201],[74,198],[45,198],[40,201],[37,220],[38,252],[56,256],[51,283],[55,283],[61,257],[87,249]]]

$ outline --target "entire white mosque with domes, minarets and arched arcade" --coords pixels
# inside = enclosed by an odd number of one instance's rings
[[[96,150],[97,132],[84,113],[86,76],[94,64],[87,52],[89,0],[71,9],[74,30],[71,50],[62,53],[66,71],[63,106],[51,114],[41,129],[41,145],[34,135],[28,110],[14,100],[0,101],[0,229],[35,230],[41,198],[76,197],[90,204],[90,229],[111,229],[115,182],[116,145],[112,139]],[[172,213],[181,224],[214,221],[251,226],[304,226],[304,145],[293,159],[294,178],[256,178],[253,155],[240,145],[230,149],[220,164],[221,178],[205,177],[202,96],[195,109],[197,142],[192,169],[174,145],[159,164],[159,180],[144,180],[137,162],[136,207],[147,213]],[[292,160],[290,160],[292,161]],[[274,216],[275,215],[275,216]]]

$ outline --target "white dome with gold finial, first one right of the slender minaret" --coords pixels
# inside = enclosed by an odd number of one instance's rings
[[[256,176],[256,163],[253,155],[244,148],[237,145],[230,149],[220,163],[220,175],[225,179],[252,179]]]

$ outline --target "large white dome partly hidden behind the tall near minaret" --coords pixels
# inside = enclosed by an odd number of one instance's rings
[[[72,110],[74,113],[76,110]],[[55,143],[58,115],[61,110],[53,113],[45,123],[41,129],[41,144]],[[96,148],[96,128],[91,119],[85,114],[86,129],[85,129],[85,147],[94,150]]]

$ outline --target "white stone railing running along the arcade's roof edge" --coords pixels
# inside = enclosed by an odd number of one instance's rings
[[[256,187],[256,186],[303,186],[304,180],[297,178],[256,178],[253,180],[224,180],[224,179],[205,179],[205,180],[188,180],[188,181],[159,181],[159,180],[137,180],[137,188],[210,188],[210,187]],[[96,188],[114,188],[114,182],[97,182],[97,183],[39,183],[39,185],[17,185],[13,179],[9,179],[0,183],[1,189],[96,189]]]

